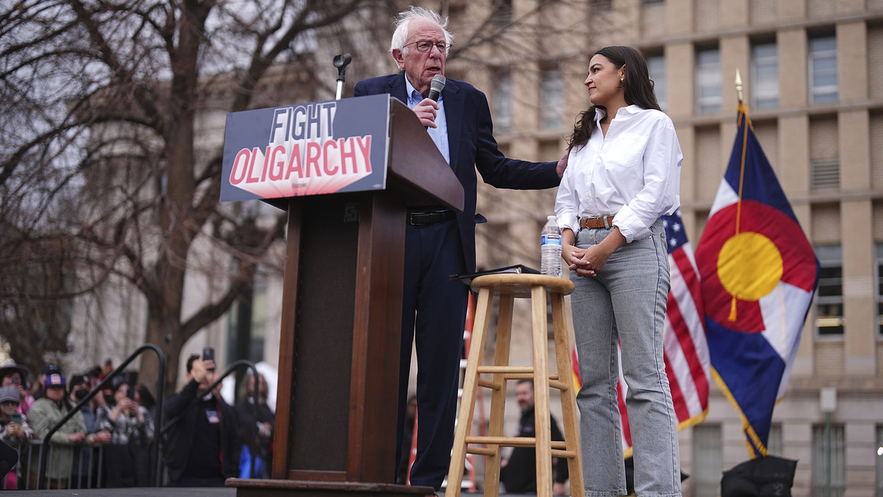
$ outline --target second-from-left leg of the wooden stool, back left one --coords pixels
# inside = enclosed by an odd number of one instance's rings
[[[497,336],[494,350],[494,366],[509,365],[509,347],[512,338],[512,308],[515,297],[500,296],[500,316],[497,319]],[[490,426],[487,434],[491,437],[502,437],[503,418],[506,409],[506,375],[494,374],[494,383],[500,388],[491,394]],[[492,445],[494,455],[487,456],[485,465],[485,497],[496,497],[500,494],[500,463],[501,447]]]

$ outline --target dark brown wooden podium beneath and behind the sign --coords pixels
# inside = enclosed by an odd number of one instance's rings
[[[367,98],[367,97],[363,97]],[[462,211],[463,187],[414,113],[389,97],[382,190],[288,206],[272,477],[240,497],[426,495],[394,485],[408,207]]]

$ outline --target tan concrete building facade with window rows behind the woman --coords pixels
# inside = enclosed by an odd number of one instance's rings
[[[694,248],[736,136],[739,70],[758,140],[822,265],[770,452],[798,460],[794,495],[825,494],[827,418],[831,494],[883,495],[883,2],[503,4],[503,22],[532,23],[535,39],[520,42],[533,49],[506,50],[527,36],[522,29],[479,47],[494,61],[487,67],[449,62],[452,77],[486,91],[502,149],[560,157],[562,137],[588,106],[582,82],[594,50],[641,50],[683,149],[681,211]],[[449,8],[459,33],[489,7]],[[554,191],[479,189],[490,219],[479,226],[479,266],[538,264],[540,227],[554,203]],[[528,362],[526,331],[517,343],[517,360]],[[835,394],[833,406],[823,405],[822,391]],[[691,475],[684,494],[696,497],[719,493],[721,470],[748,459],[741,419],[716,386],[705,422],[681,433],[681,455]]]

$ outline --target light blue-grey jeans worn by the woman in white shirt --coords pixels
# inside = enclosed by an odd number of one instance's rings
[[[617,249],[595,277],[570,279],[577,337],[577,394],[585,495],[625,495],[623,441],[620,435],[616,383],[616,342],[629,386],[625,404],[635,463],[638,496],[680,496],[681,463],[677,416],[662,359],[662,331],[671,281],[665,229],[661,221],[652,236]],[[600,243],[610,230],[581,229],[577,247]]]

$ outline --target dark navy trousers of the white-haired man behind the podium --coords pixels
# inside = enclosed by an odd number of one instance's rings
[[[448,474],[450,447],[454,444],[460,371],[451,366],[460,361],[468,298],[468,288],[449,278],[452,273],[465,272],[457,222],[451,219],[428,226],[407,226],[405,247],[398,402],[400,406],[407,402],[411,341],[416,340],[418,458],[411,469],[415,475],[411,485],[439,488]],[[398,417],[396,430],[396,461],[400,461],[404,417]]]

